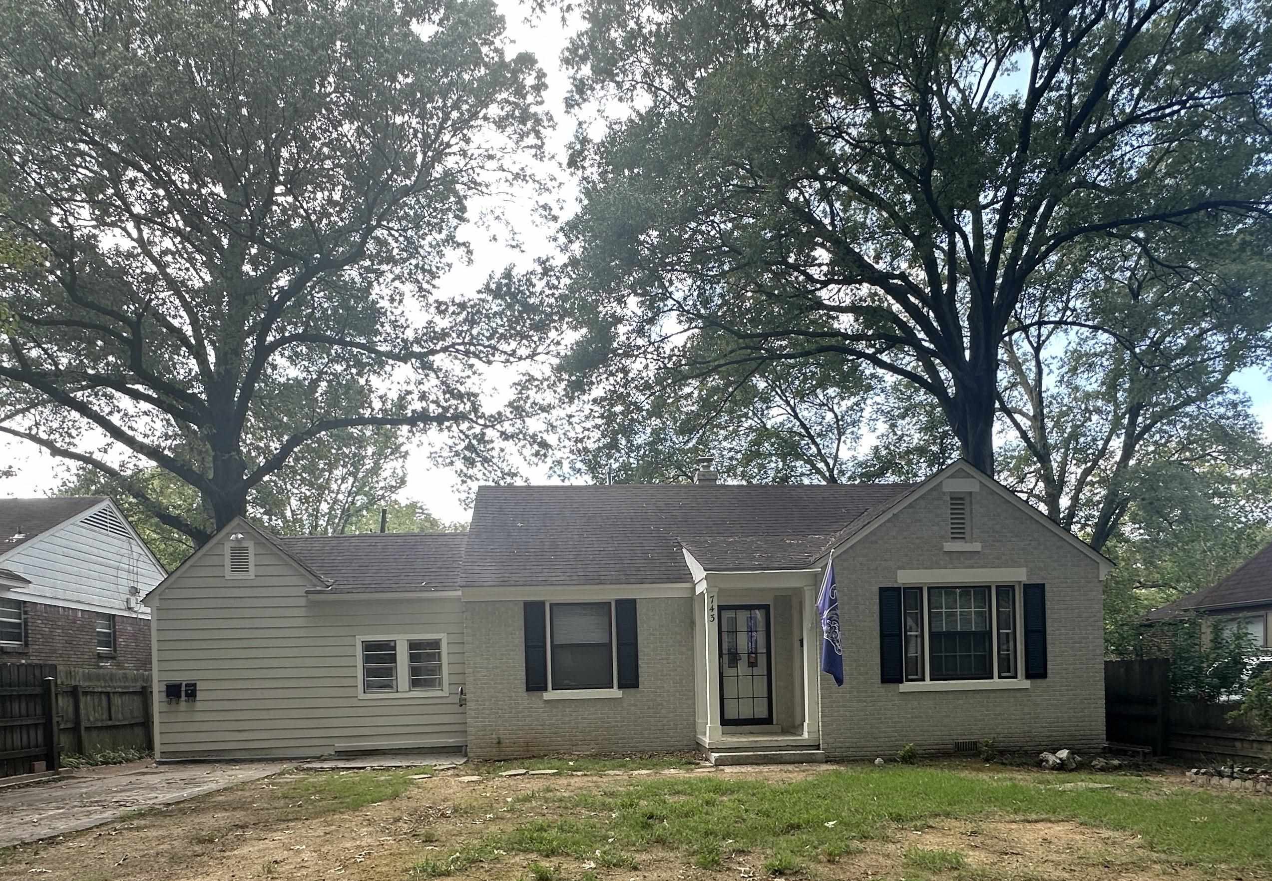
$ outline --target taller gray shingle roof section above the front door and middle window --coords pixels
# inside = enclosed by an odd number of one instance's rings
[[[682,545],[709,570],[805,568],[911,486],[481,487],[460,586],[686,582]]]

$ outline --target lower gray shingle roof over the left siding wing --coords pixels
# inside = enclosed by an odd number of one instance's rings
[[[467,533],[273,536],[332,586],[323,592],[455,590]]]

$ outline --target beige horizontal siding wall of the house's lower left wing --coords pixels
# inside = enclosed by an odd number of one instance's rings
[[[303,572],[267,544],[254,548],[256,578],[226,581],[223,547],[212,547],[153,600],[162,758],[464,742],[458,599],[313,599]],[[439,633],[448,695],[359,697],[356,637]],[[168,704],[169,681],[198,683],[198,699]]]

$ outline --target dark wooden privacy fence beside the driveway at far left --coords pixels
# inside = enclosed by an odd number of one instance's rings
[[[153,745],[149,673],[0,664],[0,777],[57,770],[67,753]]]

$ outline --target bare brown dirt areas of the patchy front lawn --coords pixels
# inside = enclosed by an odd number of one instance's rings
[[[731,778],[791,781],[826,768],[716,770]],[[331,772],[328,772],[331,773]],[[571,775],[488,777],[460,783],[449,772],[411,782],[397,798],[357,810],[322,812],[322,796],[293,800],[299,774],[284,774],[193,801],[145,811],[106,826],[0,852],[0,881],[406,881],[421,859],[445,862],[464,845],[532,820],[557,819],[556,796],[588,789],[612,791],[644,777]],[[698,777],[692,770],[683,777]],[[705,774],[702,774],[705,775]],[[308,803],[313,801],[313,803]],[[958,871],[916,872],[907,849],[954,850]],[[563,881],[586,871],[599,878],[725,878],[766,875],[767,853],[725,852],[715,870],[693,864],[693,856],[653,847],[635,854],[637,868],[591,867],[577,857],[543,858],[494,853],[454,877],[495,881],[527,876],[538,862],[558,867]],[[1150,853],[1135,835],[1074,823],[939,820],[922,829],[895,828],[834,862],[812,859],[806,875],[841,881],[935,878],[1158,878],[1201,877]]]

